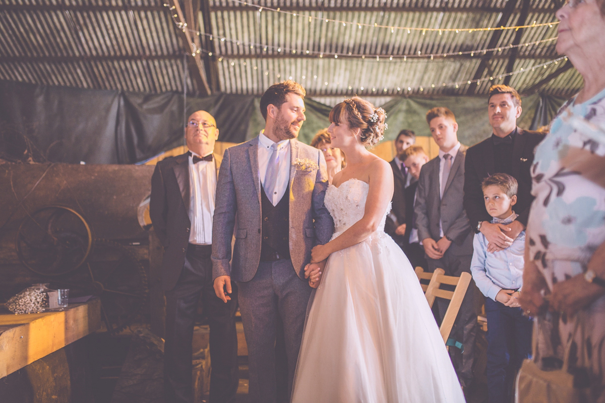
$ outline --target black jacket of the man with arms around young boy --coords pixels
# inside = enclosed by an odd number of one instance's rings
[[[534,201],[529,170],[534,163],[534,149],[544,136],[540,132],[517,127],[517,135],[512,143],[512,176],[518,182],[517,204],[513,206],[513,210],[518,214],[517,220],[523,225],[528,223],[529,207]],[[466,152],[464,209],[474,231],[477,231],[479,221],[489,222],[492,219],[485,209],[481,182],[494,173],[498,173],[494,166],[494,141],[488,137]]]

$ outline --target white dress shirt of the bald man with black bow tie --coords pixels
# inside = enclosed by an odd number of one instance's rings
[[[197,155],[191,152],[192,155]],[[204,155],[198,155],[204,156]],[[193,163],[189,156],[189,243],[195,245],[212,244],[212,215],[214,214],[214,197],[217,192],[217,166],[212,161]]]

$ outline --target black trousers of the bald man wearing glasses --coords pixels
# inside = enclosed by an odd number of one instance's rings
[[[210,403],[234,402],[239,384],[237,362],[237,288],[224,303],[214,292],[211,247],[189,245],[174,289],[166,291],[164,390],[166,403],[193,402],[192,340],[198,301],[210,326]]]

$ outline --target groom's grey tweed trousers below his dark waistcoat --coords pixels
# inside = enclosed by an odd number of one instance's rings
[[[287,358],[287,401],[301,346],[312,289],[289,259],[260,262],[249,282],[238,282],[241,321],[248,346],[250,403],[278,402],[275,373],[276,326],[281,319]]]

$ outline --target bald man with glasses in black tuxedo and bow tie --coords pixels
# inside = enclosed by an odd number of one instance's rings
[[[214,155],[217,123],[205,111],[189,117],[189,152],[166,158],[151,178],[149,214],[164,247],[166,292],[164,388],[166,403],[193,402],[192,338],[200,297],[210,325],[210,402],[234,402],[239,383],[235,309],[237,289],[227,303],[212,281],[212,215],[220,157]]]

